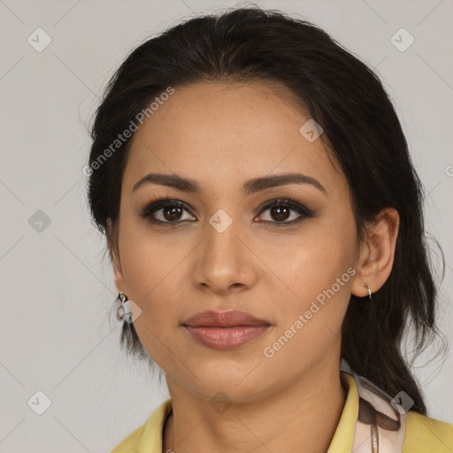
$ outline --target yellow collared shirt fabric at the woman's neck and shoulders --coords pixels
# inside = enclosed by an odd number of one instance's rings
[[[358,414],[356,381],[342,372],[347,383],[348,395],[342,417],[327,453],[350,453]],[[127,436],[111,453],[162,453],[162,431],[165,418],[172,408],[169,398],[154,411],[150,418]],[[418,412],[408,411],[403,453],[452,453],[453,425]]]

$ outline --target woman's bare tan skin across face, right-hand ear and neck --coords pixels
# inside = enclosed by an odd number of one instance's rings
[[[357,242],[349,185],[320,138],[299,129],[310,117],[277,83],[204,82],[175,88],[134,134],[119,224],[111,230],[115,283],[142,310],[134,326],[165,371],[173,415],[163,451],[326,452],[342,414],[342,319],[351,294],[367,296],[388,279],[399,217],[381,212]],[[148,173],[196,180],[200,194],[134,184]],[[265,188],[245,196],[242,184],[270,174],[303,173],[311,184]],[[190,211],[140,216],[153,197],[181,200]],[[290,198],[315,211],[301,223],[260,206]],[[222,209],[232,219],[219,233],[209,223]],[[171,214],[171,211],[170,211]],[[189,221],[195,219],[195,221]],[[287,222],[287,225],[276,225]],[[323,290],[356,270],[333,297],[271,358],[273,345]],[[364,302],[367,303],[367,302]],[[180,326],[200,311],[247,311],[272,326],[238,349],[218,351]],[[229,405],[219,413],[219,391]]]

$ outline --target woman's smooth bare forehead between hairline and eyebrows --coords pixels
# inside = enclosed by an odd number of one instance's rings
[[[231,188],[234,180],[301,172],[344,186],[320,138],[300,128],[310,119],[278,83],[199,82],[174,88],[134,133],[125,185],[147,173],[177,173]]]

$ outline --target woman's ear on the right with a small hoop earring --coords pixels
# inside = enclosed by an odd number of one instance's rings
[[[387,281],[392,272],[399,224],[398,211],[386,208],[368,226],[356,263],[357,273],[351,288],[354,296],[368,296],[367,286],[375,293]]]

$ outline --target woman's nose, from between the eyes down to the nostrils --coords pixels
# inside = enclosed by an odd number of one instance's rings
[[[219,232],[206,223],[204,240],[194,256],[193,281],[218,295],[251,288],[257,281],[257,262],[247,244],[247,234],[234,222]],[[249,241],[250,242],[250,241]]]

